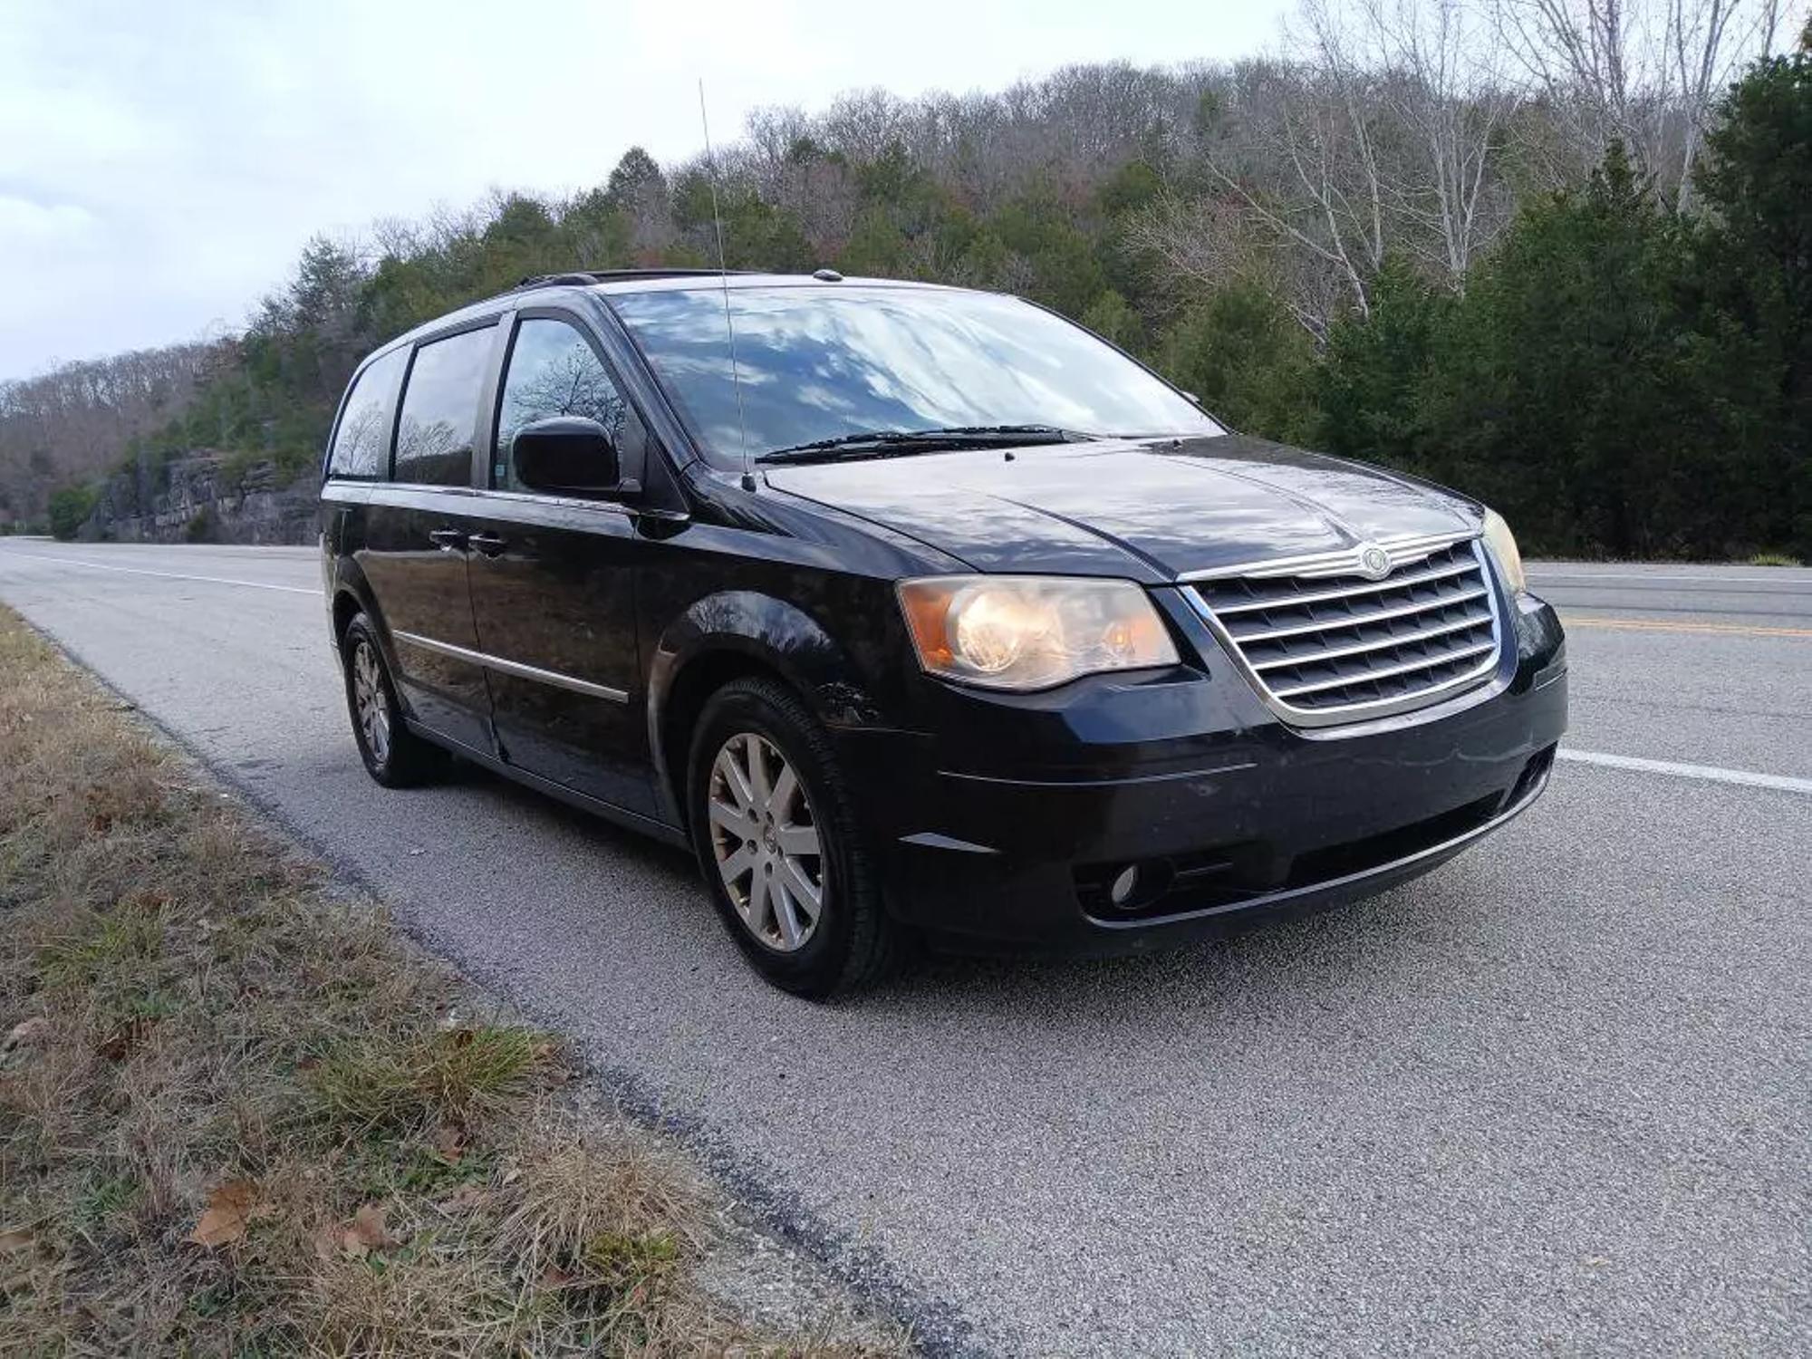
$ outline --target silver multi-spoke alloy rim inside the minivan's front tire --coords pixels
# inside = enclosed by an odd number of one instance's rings
[[[732,736],[705,801],[718,875],[748,933],[781,953],[805,948],[824,913],[824,855],[786,756],[754,732]]]

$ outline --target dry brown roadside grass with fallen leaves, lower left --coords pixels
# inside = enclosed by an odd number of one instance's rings
[[[853,1354],[663,1145],[0,611],[0,1352]]]

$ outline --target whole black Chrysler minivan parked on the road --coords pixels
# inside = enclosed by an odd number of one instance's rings
[[[529,279],[364,361],[321,506],[371,777],[453,752],[690,844],[801,995],[1379,892],[1566,727],[1497,515],[1017,297]]]

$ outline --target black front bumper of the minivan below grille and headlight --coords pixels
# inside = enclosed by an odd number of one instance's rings
[[[1321,732],[1279,723],[1181,607],[1205,667],[1047,696],[939,687],[940,737],[839,736],[890,910],[959,948],[1123,953],[1428,872],[1540,795],[1566,730],[1558,620],[1528,596],[1508,616],[1489,687]]]

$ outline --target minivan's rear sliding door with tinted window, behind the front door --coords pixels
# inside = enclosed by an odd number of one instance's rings
[[[364,571],[410,712],[491,754],[491,692],[471,616],[467,540],[480,527],[473,435],[495,324],[419,344],[404,379],[390,484],[371,487]]]

